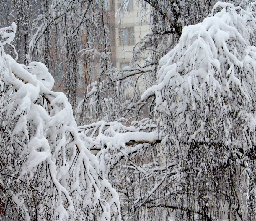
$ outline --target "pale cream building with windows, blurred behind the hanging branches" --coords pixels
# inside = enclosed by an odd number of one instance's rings
[[[136,43],[149,31],[149,22],[140,19],[140,8],[137,6],[135,0],[102,0],[99,2],[101,2],[102,7],[104,7],[104,14],[106,14],[104,23],[108,26],[110,31],[109,40],[113,66],[117,69],[122,69],[129,65],[132,58],[132,51]],[[122,11],[120,7],[126,12],[120,12]],[[93,36],[95,36],[95,33],[90,33],[90,36],[81,34],[80,50],[84,49],[82,45],[83,42],[88,41],[89,38]],[[97,46],[95,47],[97,48]],[[51,51],[51,53],[56,54],[54,51]],[[81,53],[79,55],[81,55]],[[81,57],[82,62],[79,64],[81,79],[77,86],[77,103],[84,98],[86,88],[90,83],[100,81],[98,78],[103,71],[99,62],[100,56],[93,55],[91,59],[94,60],[93,64],[88,62],[88,57]],[[58,71],[60,74],[54,76],[55,91],[65,91],[62,74],[64,68],[65,63],[61,63]],[[90,74],[89,76],[89,72],[92,73],[92,75]]]

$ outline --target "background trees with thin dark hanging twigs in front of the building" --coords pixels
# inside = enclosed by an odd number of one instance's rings
[[[127,10],[128,2],[120,4],[121,13]],[[151,104],[152,107],[154,98],[141,103],[141,83],[137,82],[147,82],[143,87],[151,86],[148,82],[155,83],[159,59],[175,46],[182,27],[200,22],[212,5],[212,1],[205,5],[200,0],[193,3],[184,0],[133,1],[141,8],[142,20],[148,16],[150,5],[151,31],[138,42],[131,68],[121,71],[113,68],[115,60],[111,55],[110,30],[114,33],[116,1],[4,0],[4,3],[1,9],[5,19],[1,26],[7,26],[13,20],[19,23],[19,36],[14,42],[20,55],[18,62],[28,64],[40,60],[45,63],[55,79],[61,81],[55,89],[65,92],[73,110],[78,91],[84,91],[84,102],[76,114],[79,124],[103,118],[109,121],[124,115],[126,118],[144,117],[150,112],[145,111],[148,106],[143,106]],[[8,53],[12,51],[8,50]],[[145,62],[139,66],[141,60]],[[95,64],[101,70],[97,77]],[[81,78],[81,75],[85,77]],[[124,93],[128,85],[135,91],[130,100]]]

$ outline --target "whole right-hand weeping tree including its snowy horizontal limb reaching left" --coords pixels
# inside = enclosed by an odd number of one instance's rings
[[[124,220],[255,219],[255,24],[251,12],[218,2],[183,29],[141,97],[156,97],[157,130],[150,119],[81,126],[108,161]],[[151,139],[118,134],[140,130]]]

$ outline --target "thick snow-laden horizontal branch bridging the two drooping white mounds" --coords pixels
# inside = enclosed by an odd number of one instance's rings
[[[97,123],[79,126],[78,131],[80,132],[81,139],[89,142],[89,150],[93,151],[97,156],[104,155],[107,150],[122,151],[121,155],[119,155],[120,158],[116,159],[117,161],[123,158],[125,151],[126,154],[138,151],[137,147],[130,148],[129,146],[139,143],[155,145],[161,142],[162,132],[160,133],[158,131],[156,123],[151,119],[132,121],[130,124],[128,127],[117,121],[99,121]]]

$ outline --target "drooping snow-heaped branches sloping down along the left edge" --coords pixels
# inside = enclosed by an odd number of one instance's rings
[[[45,65],[4,53],[16,25],[0,29],[0,194],[7,220],[111,220],[119,198],[79,138],[67,97]],[[12,46],[12,45],[11,45]],[[104,169],[104,168],[103,168]]]

